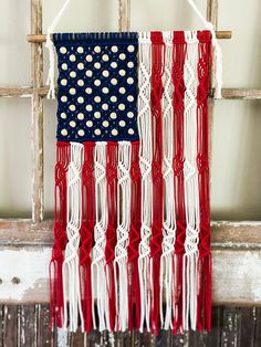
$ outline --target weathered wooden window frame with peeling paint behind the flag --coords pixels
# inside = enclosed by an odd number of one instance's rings
[[[0,303],[44,303],[49,299],[48,262],[53,242],[51,220],[43,201],[43,84],[42,0],[31,1],[31,86],[0,87],[0,96],[27,96],[32,107],[32,218],[0,220],[0,263],[9,259],[9,277],[0,271]],[[119,1],[121,31],[129,28],[130,0]],[[218,1],[207,1],[207,19],[218,29]],[[217,31],[219,39],[231,32]],[[212,94],[212,93],[211,93]],[[261,99],[261,90],[225,88],[226,99]],[[210,119],[213,108],[210,95]],[[261,304],[261,222],[212,222],[213,303]],[[7,253],[8,252],[8,253]],[[6,264],[4,264],[6,266]],[[21,271],[22,266],[22,271]],[[230,288],[230,283],[233,288]]]

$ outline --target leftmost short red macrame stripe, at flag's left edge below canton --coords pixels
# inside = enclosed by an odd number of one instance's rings
[[[63,251],[66,244],[66,172],[70,164],[70,143],[58,141],[54,193],[54,244],[50,262],[51,326],[63,326]]]

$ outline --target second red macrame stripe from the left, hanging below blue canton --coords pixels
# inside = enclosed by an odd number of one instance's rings
[[[82,227],[80,230],[80,273],[84,332],[87,333],[93,328],[91,251],[95,225],[94,149],[95,143],[84,143],[84,162],[82,168]]]

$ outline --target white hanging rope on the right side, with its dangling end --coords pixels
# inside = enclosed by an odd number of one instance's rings
[[[205,28],[211,32],[212,35],[212,46],[213,46],[213,61],[215,61],[215,98],[222,98],[222,51],[218,43],[213,24],[205,19],[202,13],[197,8],[194,0],[187,0],[191,8],[195,10],[197,15],[203,22]]]

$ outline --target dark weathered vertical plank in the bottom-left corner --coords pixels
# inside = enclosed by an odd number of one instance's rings
[[[18,346],[18,307],[4,306],[3,347]]]

